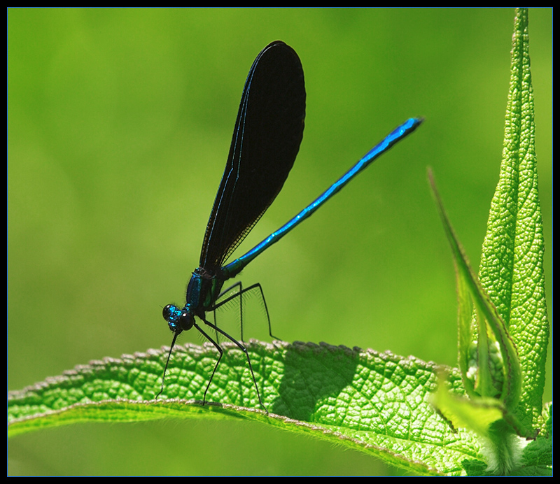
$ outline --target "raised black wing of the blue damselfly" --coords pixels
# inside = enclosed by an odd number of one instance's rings
[[[269,43],[245,82],[200,267],[221,267],[279,194],[300,149],[304,118],[300,58],[281,41]]]

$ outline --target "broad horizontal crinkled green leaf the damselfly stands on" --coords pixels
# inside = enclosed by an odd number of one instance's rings
[[[207,398],[202,395],[216,350],[186,345],[77,366],[62,376],[8,394],[8,436],[75,422],[162,418],[239,418],[344,443],[420,474],[460,474],[480,460],[476,440],[454,431],[428,403],[441,368],[413,357],[311,343],[248,343],[255,377],[269,408],[261,410],[244,354],[224,343]],[[458,371],[449,385],[463,394]]]

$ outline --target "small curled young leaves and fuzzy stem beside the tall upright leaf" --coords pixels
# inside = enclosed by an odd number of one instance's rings
[[[442,224],[454,255],[459,294],[459,360],[463,361],[461,375],[469,396],[469,399],[450,396],[447,394],[447,390],[443,390],[440,385],[433,397],[433,403],[454,427],[476,432],[489,471],[507,475],[521,465],[521,442],[517,435],[532,439],[536,436],[536,432],[526,429],[515,414],[521,389],[519,357],[503,320],[470,268],[463,248],[444,211],[431,171],[428,175]],[[468,336],[472,336],[470,327],[466,325],[468,311],[473,307],[470,304],[471,298],[477,314],[476,320],[480,322],[476,342],[478,358],[475,385],[469,383],[470,368],[465,371],[467,355],[462,351],[465,340],[468,339]],[[503,364],[499,366],[500,371],[503,369],[503,385],[500,389],[493,385],[493,380],[498,380],[498,378],[494,378],[496,365],[491,364],[489,352],[484,351],[489,348],[486,338],[481,337],[486,335],[486,329],[491,330],[495,341],[499,342],[498,353],[503,360]],[[485,355],[485,357],[481,358],[481,355]],[[493,398],[496,393],[498,398]]]

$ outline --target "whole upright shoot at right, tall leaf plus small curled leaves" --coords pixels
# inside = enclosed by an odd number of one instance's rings
[[[440,389],[433,401],[454,425],[479,435],[488,469],[501,475],[521,466],[522,445],[515,434],[535,439],[536,427],[542,424],[549,326],[534,133],[528,12],[519,8],[503,162],[491,204],[480,280],[428,171],[456,267],[459,367],[469,397],[451,397]]]

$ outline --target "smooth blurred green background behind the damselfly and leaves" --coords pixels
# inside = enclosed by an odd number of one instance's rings
[[[258,257],[244,284],[262,283],[285,341],[456,364],[454,269],[426,166],[477,267],[498,180],[513,15],[9,9],[8,390],[169,345],[162,306],[183,301],[246,74],[276,39],[302,59],[306,129],[286,185],[238,255],[397,124],[426,122]],[[552,321],[552,10],[529,18]],[[12,475],[399,473],[247,422],[73,425],[8,444]]]

